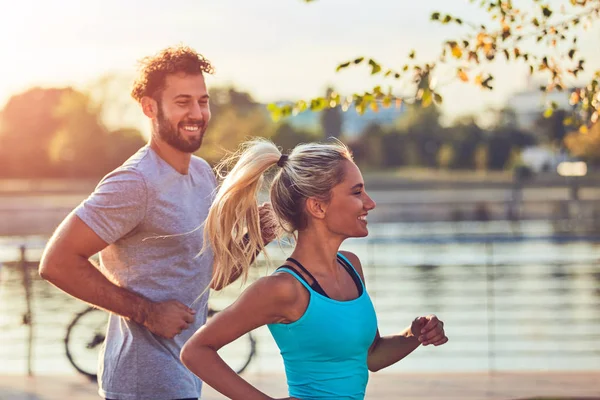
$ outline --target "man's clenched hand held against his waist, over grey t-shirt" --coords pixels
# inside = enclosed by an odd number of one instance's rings
[[[152,303],[142,324],[155,335],[173,339],[194,322],[195,314],[195,310],[183,303],[167,300]]]

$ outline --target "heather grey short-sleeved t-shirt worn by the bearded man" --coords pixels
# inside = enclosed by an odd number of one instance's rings
[[[213,256],[197,255],[215,188],[215,176],[201,158],[192,157],[189,173],[181,175],[145,146],[75,210],[109,243],[100,253],[100,268],[111,281],[152,301],[178,300],[197,311],[194,323],[173,340],[111,314],[99,362],[100,396],[200,397],[202,383],[179,353],[206,322]]]

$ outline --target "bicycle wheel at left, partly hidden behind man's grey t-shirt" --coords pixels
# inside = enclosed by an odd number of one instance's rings
[[[65,351],[75,369],[97,380],[98,354],[106,337],[108,314],[94,307],[88,307],[75,315],[67,328]]]

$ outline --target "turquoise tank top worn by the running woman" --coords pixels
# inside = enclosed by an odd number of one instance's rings
[[[352,264],[344,260],[360,276]],[[304,315],[289,324],[269,324],[279,347],[289,395],[302,400],[363,400],[369,380],[368,350],[377,333],[373,303],[360,280],[362,293],[354,300],[337,301],[316,292],[293,270],[310,293]]]

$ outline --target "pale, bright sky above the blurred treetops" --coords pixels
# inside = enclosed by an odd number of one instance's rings
[[[328,86],[350,95],[394,82],[360,67],[336,73],[340,62],[363,55],[401,68],[411,49],[433,60],[445,40],[460,37],[464,28],[432,23],[431,12],[489,22],[467,0],[0,0],[0,10],[0,108],[36,85],[133,76],[140,58],[177,43],[211,60],[217,73],[209,85],[234,85],[261,102],[309,99]],[[579,38],[588,70],[600,69],[599,38],[597,28]],[[524,65],[497,62],[491,71],[493,92],[458,82],[440,89],[447,118],[502,107],[527,85]]]

